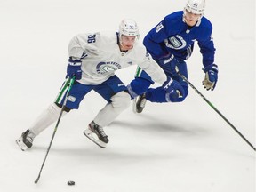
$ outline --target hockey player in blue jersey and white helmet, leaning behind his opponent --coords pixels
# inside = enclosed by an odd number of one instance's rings
[[[148,74],[137,69],[136,78],[128,85],[135,98],[134,112],[141,113],[146,100],[151,102],[181,102],[188,95],[188,84],[177,74],[188,78],[185,60],[191,56],[197,42],[203,56],[203,85],[206,90],[214,90],[218,80],[218,66],[214,63],[215,48],[212,41],[212,24],[204,15],[205,0],[188,0],[183,11],[173,12],[160,21],[145,36],[143,44],[147,51],[172,78],[173,92],[166,94],[163,87],[149,88],[154,84]],[[139,97],[137,97],[140,95]],[[138,99],[137,99],[138,98]],[[137,99],[137,100],[136,100]]]

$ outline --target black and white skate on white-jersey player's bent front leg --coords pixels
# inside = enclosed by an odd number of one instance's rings
[[[96,137],[93,136],[96,134]],[[104,132],[103,128],[95,124],[93,121],[88,125],[88,129],[84,130],[84,135],[92,140],[95,144],[100,146],[100,148],[106,148],[108,143],[108,136]]]

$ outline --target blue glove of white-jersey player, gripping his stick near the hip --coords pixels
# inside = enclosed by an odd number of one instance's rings
[[[82,61],[81,60],[73,60],[71,57],[68,60],[68,68],[67,68],[67,76],[72,78],[75,76],[76,80],[82,78],[82,70],[81,70]]]

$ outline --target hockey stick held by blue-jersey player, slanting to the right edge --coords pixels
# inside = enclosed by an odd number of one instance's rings
[[[207,100],[205,97],[204,97],[204,95],[201,93],[201,92],[199,92],[197,89],[196,89],[196,87],[193,85],[193,84],[191,84],[189,81],[188,81],[188,79],[186,78],[186,76],[183,76],[183,75],[181,75],[180,74],[180,71],[179,71],[179,69],[178,68],[176,68],[176,72],[177,72],[177,74],[186,82],[186,83],[188,83],[189,84],[189,86],[192,88],[192,89],[194,89],[196,92],[197,92],[197,94],[199,94],[207,103],[208,103],[208,105],[210,105],[243,139],[244,139],[244,141],[245,142],[247,142],[247,144],[251,147],[251,148],[253,148],[253,150],[254,151],[256,151],[256,148],[255,147],[253,147],[253,145],[252,145],[252,143],[250,143],[245,137],[244,137],[244,135],[241,133],[241,132],[239,132],[237,129],[236,129],[236,127],[233,125],[233,124],[231,124],[229,121],[228,121],[228,119],[225,117],[225,116],[223,116],[221,113],[220,113],[220,111],[217,109],[217,108],[215,108],[213,105],[212,105],[212,103],[209,101],[209,100]]]

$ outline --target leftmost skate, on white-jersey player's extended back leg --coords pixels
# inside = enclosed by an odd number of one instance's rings
[[[21,137],[18,140],[16,140],[16,143],[22,151],[25,151],[28,148],[32,147],[32,143],[35,137],[36,135],[33,132],[27,130],[26,132],[23,132],[21,134]]]

